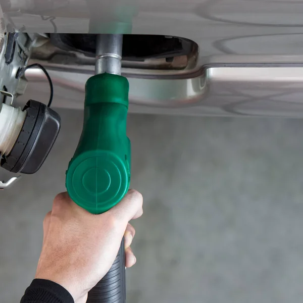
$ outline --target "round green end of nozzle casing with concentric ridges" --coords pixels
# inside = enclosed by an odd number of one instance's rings
[[[86,151],[73,158],[66,176],[71,199],[93,214],[114,207],[129,186],[125,163],[107,150]]]

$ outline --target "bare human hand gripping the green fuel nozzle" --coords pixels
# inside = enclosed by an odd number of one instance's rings
[[[104,214],[93,215],[76,205],[67,192],[54,199],[43,221],[43,244],[36,279],[63,286],[75,303],[84,303],[88,291],[110,270],[125,236],[125,265],[136,259],[130,248],[135,235],[128,223],[142,215],[142,195],[129,190]]]

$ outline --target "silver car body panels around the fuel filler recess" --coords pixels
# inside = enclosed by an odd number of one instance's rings
[[[194,41],[198,51],[192,64],[181,70],[123,64],[131,112],[303,116],[302,1],[0,0],[0,4],[3,31],[108,33],[108,24],[119,23],[125,34]],[[82,109],[93,64],[44,64],[55,84],[54,106]],[[29,84],[21,98],[38,95],[47,100],[48,84],[41,71],[28,70],[26,77]]]

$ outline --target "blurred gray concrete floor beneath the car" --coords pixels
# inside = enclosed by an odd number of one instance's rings
[[[0,295],[34,276],[42,219],[63,191],[82,113],[60,111],[41,170],[0,193]],[[280,303],[303,296],[303,121],[130,116],[137,265],[129,303]]]

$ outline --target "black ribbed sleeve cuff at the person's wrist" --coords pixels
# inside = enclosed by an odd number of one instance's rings
[[[25,290],[20,303],[74,303],[72,295],[61,285],[34,279]]]

